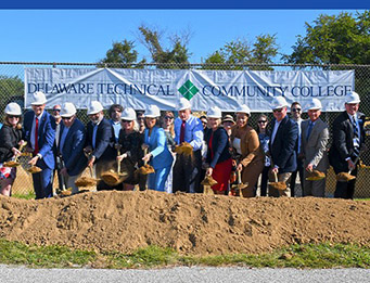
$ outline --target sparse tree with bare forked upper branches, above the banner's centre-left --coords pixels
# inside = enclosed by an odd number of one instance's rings
[[[188,68],[190,53],[187,48],[189,34],[175,35],[169,38],[171,47],[164,48],[162,33],[145,25],[139,27],[142,43],[148,48],[158,68]],[[162,65],[163,64],[163,65]],[[174,65],[168,65],[174,64]]]

